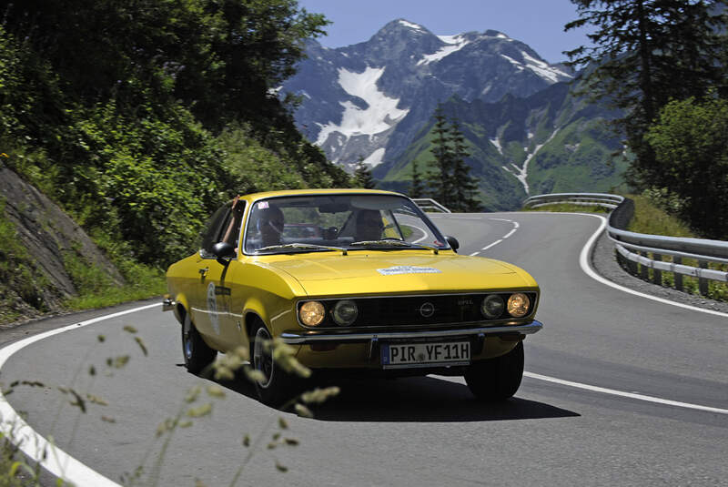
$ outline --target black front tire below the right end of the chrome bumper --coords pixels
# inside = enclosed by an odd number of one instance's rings
[[[480,360],[465,372],[465,382],[480,401],[505,401],[521,386],[523,342],[501,357]]]

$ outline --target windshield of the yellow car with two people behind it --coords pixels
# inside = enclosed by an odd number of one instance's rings
[[[340,194],[258,200],[250,209],[244,249],[278,254],[450,247],[409,198]]]

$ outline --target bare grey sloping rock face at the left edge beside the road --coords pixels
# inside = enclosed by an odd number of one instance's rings
[[[33,309],[53,311],[60,309],[63,299],[76,296],[76,286],[66,270],[65,260],[80,259],[86,266],[103,272],[116,284],[124,279],[114,265],[106,259],[86,232],[58,208],[38,189],[18,177],[7,167],[0,167],[0,198],[5,200],[6,221],[15,227],[20,247],[26,249],[35,274],[35,299],[41,302],[25,303]],[[39,281],[43,285],[39,285]],[[17,299],[15,299],[17,300]],[[24,303],[11,303],[11,307],[28,316]]]

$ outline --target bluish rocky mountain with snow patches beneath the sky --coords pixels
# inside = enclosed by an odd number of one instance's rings
[[[404,19],[353,46],[308,41],[307,54],[280,91],[302,97],[298,127],[332,162],[350,170],[364,158],[379,173],[450,96],[497,102],[571,79],[566,67],[501,32],[436,36]]]

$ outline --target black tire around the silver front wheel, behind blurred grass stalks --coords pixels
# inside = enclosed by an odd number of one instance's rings
[[[250,365],[266,376],[264,382],[256,381],[258,398],[264,404],[279,408],[303,391],[304,380],[281,369],[273,361],[266,342],[272,340],[270,332],[262,322],[250,330]]]

